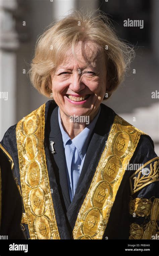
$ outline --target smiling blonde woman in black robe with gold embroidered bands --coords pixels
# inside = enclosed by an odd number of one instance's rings
[[[153,141],[101,103],[133,54],[107,19],[79,11],[39,37],[29,74],[51,100],[1,142],[13,159],[28,239],[152,239],[158,232]]]

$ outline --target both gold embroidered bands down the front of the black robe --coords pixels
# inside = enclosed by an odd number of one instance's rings
[[[45,104],[16,127],[20,181],[31,239],[60,239],[44,150]],[[79,211],[74,239],[102,239],[126,166],[142,131],[115,116],[86,198]]]

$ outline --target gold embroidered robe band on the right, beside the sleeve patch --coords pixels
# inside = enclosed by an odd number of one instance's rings
[[[126,166],[141,134],[143,132],[115,116],[106,147],[78,213],[74,239],[102,239]]]

